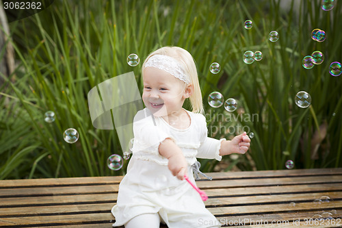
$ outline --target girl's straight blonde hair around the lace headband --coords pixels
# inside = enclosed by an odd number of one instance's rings
[[[202,93],[200,92],[200,83],[198,81],[198,75],[196,70],[196,64],[192,55],[185,49],[181,47],[161,47],[156,51],[150,53],[147,56],[144,64],[142,64],[142,76],[144,76],[144,68],[147,60],[153,55],[168,55],[181,64],[185,74],[190,79],[190,84],[192,84],[194,91],[192,95],[189,97],[190,103],[192,105],[192,112],[196,113],[204,113],[203,109],[203,101],[202,101]]]

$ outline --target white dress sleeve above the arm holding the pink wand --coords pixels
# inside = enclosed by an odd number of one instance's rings
[[[147,109],[137,112],[133,121],[134,144],[132,152],[159,154],[159,144],[166,138],[174,140],[168,129],[157,125],[157,119]]]

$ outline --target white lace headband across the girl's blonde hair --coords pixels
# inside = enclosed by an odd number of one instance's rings
[[[190,83],[190,80],[183,71],[181,64],[168,55],[152,55],[145,63],[145,68],[148,66],[159,68],[187,84]]]

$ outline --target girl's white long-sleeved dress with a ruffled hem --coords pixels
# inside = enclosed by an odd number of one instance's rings
[[[168,160],[158,151],[159,143],[172,138],[187,160],[187,175],[195,183],[192,164],[196,157],[221,160],[221,140],[207,137],[205,116],[186,111],[191,123],[187,129],[176,129],[163,118],[145,108],[133,122],[133,155],[122,179],[117,204],[111,209],[121,226],[140,214],[159,213],[170,228],[220,227],[220,223],[187,181],[179,180],[168,169]],[[224,139],[222,139],[224,140]]]

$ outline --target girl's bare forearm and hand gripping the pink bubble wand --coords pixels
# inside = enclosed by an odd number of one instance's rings
[[[159,144],[159,153],[169,160],[168,168],[172,175],[183,180],[184,175],[187,174],[187,161],[185,160],[181,148],[179,148],[172,139],[166,138]]]

